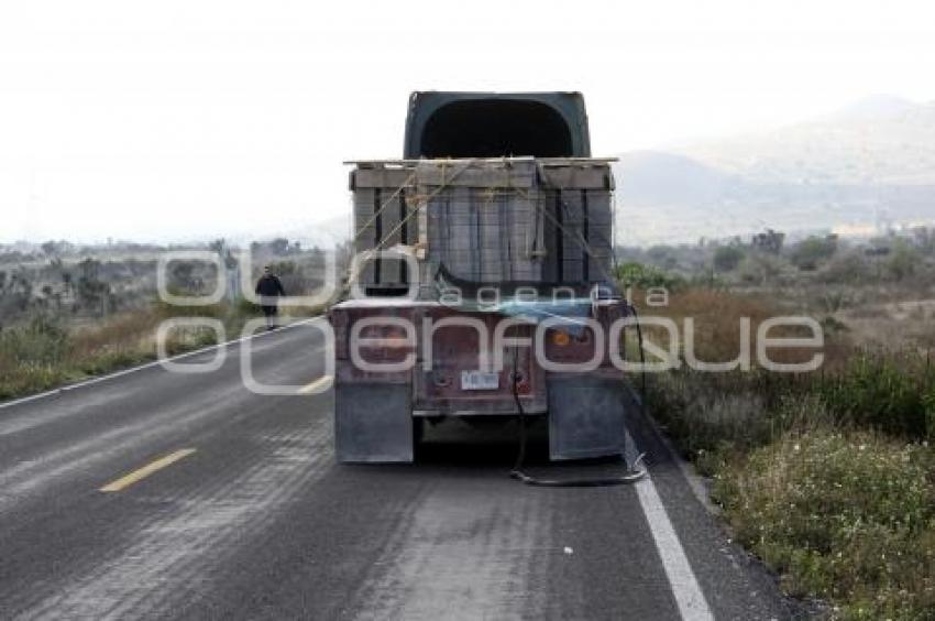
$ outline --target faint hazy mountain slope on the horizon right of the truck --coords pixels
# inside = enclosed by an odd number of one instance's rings
[[[873,96],[769,133],[625,153],[618,241],[935,221],[935,103]]]

